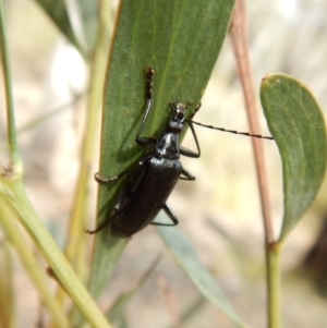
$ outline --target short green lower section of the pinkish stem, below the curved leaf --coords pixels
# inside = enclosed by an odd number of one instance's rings
[[[280,243],[266,246],[268,328],[280,328]]]

